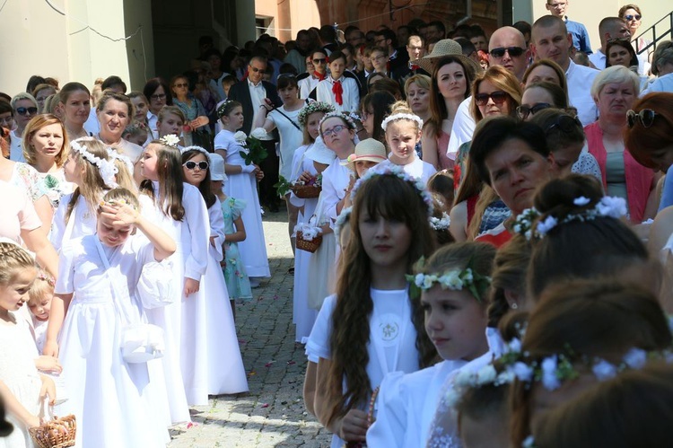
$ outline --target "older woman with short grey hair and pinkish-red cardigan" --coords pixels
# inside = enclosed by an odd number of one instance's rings
[[[625,151],[626,112],[640,92],[640,79],[625,66],[611,66],[600,72],[591,85],[599,119],[584,127],[589,152],[596,157],[608,196],[625,198],[634,224],[654,216],[656,185],[654,171],[636,162]]]

